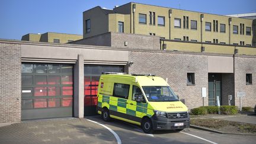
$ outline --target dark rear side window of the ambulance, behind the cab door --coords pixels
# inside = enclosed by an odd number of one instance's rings
[[[130,85],[114,83],[114,97],[128,98]]]

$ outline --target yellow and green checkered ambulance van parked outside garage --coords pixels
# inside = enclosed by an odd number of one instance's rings
[[[97,112],[104,121],[137,124],[145,133],[190,126],[188,108],[159,76],[104,73],[97,97]]]

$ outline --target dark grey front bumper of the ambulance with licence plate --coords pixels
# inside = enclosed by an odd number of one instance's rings
[[[153,130],[185,129],[190,127],[190,117],[171,119],[158,117],[155,114],[151,117]]]

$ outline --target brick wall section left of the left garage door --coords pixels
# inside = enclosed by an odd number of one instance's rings
[[[21,47],[0,43],[0,123],[21,120]]]

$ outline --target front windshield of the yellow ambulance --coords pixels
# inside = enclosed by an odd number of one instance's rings
[[[179,101],[169,86],[143,86],[148,101]]]

